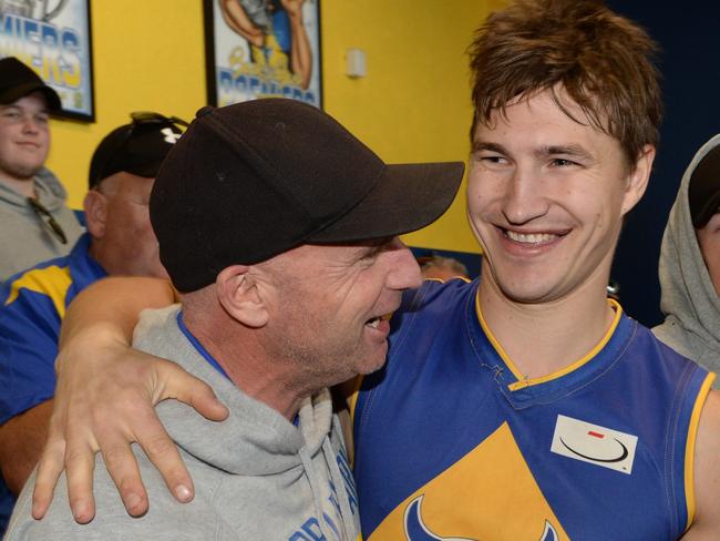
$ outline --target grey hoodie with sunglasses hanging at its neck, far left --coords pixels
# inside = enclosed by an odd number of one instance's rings
[[[83,232],[65,204],[65,188],[47,169],[35,175],[35,193],[63,228],[68,243],[62,244],[50,232],[24,195],[0,182],[0,282],[40,262],[69,254]]]

